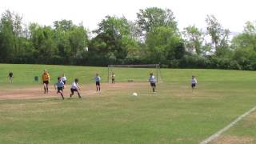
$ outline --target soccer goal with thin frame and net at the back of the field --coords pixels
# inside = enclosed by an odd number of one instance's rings
[[[112,74],[115,82],[148,82],[150,73],[153,73],[157,82],[162,82],[162,74],[159,64],[148,65],[108,65],[108,82],[111,82]]]

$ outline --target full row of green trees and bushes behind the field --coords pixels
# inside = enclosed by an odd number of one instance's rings
[[[162,67],[256,70],[256,25],[230,39],[214,15],[206,28],[178,29],[170,9],[139,10],[137,19],[107,15],[96,30],[70,20],[25,25],[10,10],[0,20],[0,62],[82,66],[159,63]]]

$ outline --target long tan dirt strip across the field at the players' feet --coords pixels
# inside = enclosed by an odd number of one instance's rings
[[[102,83],[102,92],[110,91],[110,90],[122,90],[126,88],[136,87],[136,86],[147,86],[146,82],[128,82],[128,83]],[[60,98],[59,94],[56,94],[57,90],[54,89],[54,86],[49,86],[49,93],[43,93],[43,86],[30,86],[26,88],[11,88],[8,90],[0,91],[0,99],[30,99],[30,98]],[[66,86],[63,90],[63,94],[65,97],[69,97],[70,95],[70,86]],[[81,94],[83,96],[92,96],[94,94],[98,94],[96,91],[96,87],[94,84],[81,85]]]

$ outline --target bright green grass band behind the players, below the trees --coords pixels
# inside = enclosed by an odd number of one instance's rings
[[[14,72],[14,85],[34,85],[34,77],[38,76],[39,81],[43,70],[50,72],[51,80],[56,82],[58,76],[66,74],[69,82],[79,78],[80,83],[94,82],[96,73],[102,77],[102,82],[107,82],[106,67],[85,67],[85,66],[54,66],[54,65],[18,65],[0,64],[0,85],[6,85],[7,75],[10,70]],[[131,69],[131,70],[130,70]],[[114,68],[118,82],[127,82],[134,79],[135,82],[146,82],[149,73],[154,69],[141,68]],[[155,74],[155,73],[154,73]],[[191,70],[191,69],[161,69],[163,82],[190,82],[191,75],[199,78],[200,82],[255,82],[256,74],[253,71],[239,70]],[[39,82],[40,83],[40,82]]]

